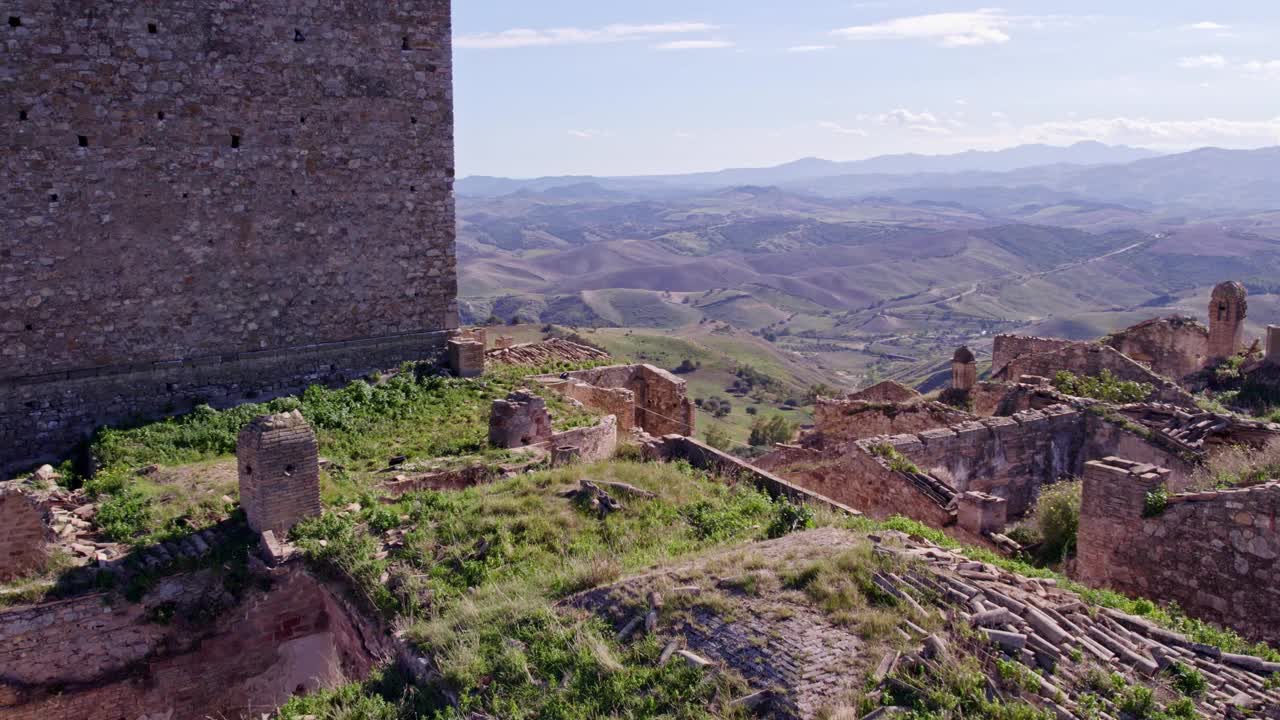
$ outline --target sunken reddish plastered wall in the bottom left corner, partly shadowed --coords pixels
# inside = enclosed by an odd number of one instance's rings
[[[183,618],[183,603],[220,592],[196,574],[163,580],[138,603],[93,594],[0,611],[0,716],[260,717],[392,657],[379,629],[297,565],[212,621]]]

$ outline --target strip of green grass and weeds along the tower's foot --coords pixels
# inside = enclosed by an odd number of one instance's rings
[[[476,462],[507,460],[508,454],[488,447],[490,404],[524,387],[531,374],[563,369],[571,368],[499,366],[484,378],[456,379],[406,365],[374,384],[357,380],[337,389],[312,386],[300,397],[229,410],[200,406],[187,415],[136,428],[104,428],[90,446],[97,473],[83,479],[69,465],[64,470],[69,482],[83,482],[101,503],[99,524],[111,539],[137,544],[170,539],[227,515],[229,509],[221,498],[225,495],[234,500],[234,473],[219,492],[197,492],[183,482],[157,483],[137,470],[161,465],[198,475],[193,466],[234,455],[239,430],[257,415],[302,413],[316,432],[321,456],[332,462],[325,473],[325,497],[339,501],[370,487],[372,473],[387,468],[397,455],[404,455],[408,462],[461,456]],[[553,392],[541,395],[557,430],[595,420]]]

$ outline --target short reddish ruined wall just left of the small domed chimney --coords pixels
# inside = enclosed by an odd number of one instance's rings
[[[974,419],[941,402],[924,401],[883,404],[820,397],[813,409],[814,429],[824,442],[918,433]]]

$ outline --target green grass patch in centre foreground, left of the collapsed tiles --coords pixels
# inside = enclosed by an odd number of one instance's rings
[[[618,492],[625,509],[602,519],[563,496],[585,478],[657,497]],[[424,701],[430,707],[415,710],[424,717],[701,719],[724,716],[710,706],[732,698],[740,689],[733,680],[704,678],[681,662],[658,667],[660,646],[620,646],[599,620],[561,614],[554,603],[645,568],[762,539],[780,521],[799,529],[812,520],[792,523],[794,515],[787,503],[684,464],[614,461],[410,493],[358,515],[329,512],[296,528],[294,538],[312,562],[399,618],[435,660],[440,676]],[[376,559],[375,530],[389,525],[406,532],[404,547]],[[335,705],[352,702],[349,689],[333,693]],[[285,717],[315,710],[296,705]],[[402,697],[374,707],[401,715],[372,717],[410,716]]]

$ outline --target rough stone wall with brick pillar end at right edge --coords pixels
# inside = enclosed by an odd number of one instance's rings
[[[1174,495],[1144,518],[1147,493],[1166,484],[1152,470],[1088,464],[1078,578],[1280,643],[1280,483]]]

